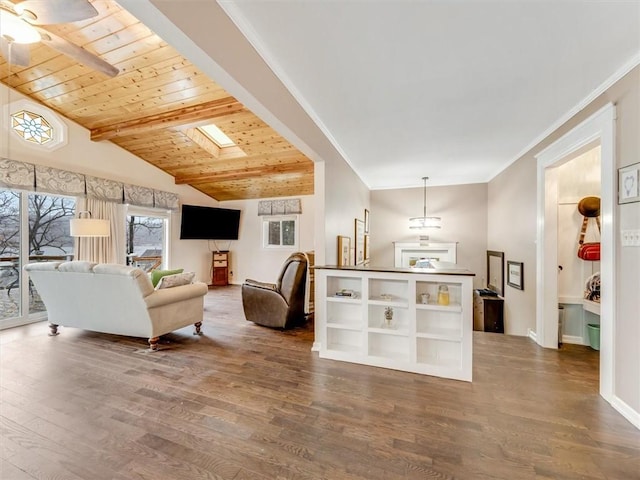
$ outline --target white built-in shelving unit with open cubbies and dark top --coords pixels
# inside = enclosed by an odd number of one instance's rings
[[[322,358],[471,381],[472,278],[464,270],[316,267],[314,349]],[[448,305],[437,303],[441,286]]]

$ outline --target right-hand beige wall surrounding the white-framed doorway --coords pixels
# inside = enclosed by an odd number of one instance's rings
[[[525,290],[507,289],[505,308],[518,332],[535,330],[536,161],[534,155],[579,125],[607,103],[616,105],[616,167],[638,161],[640,153],[640,67],[609,87],[602,95],[520,157],[489,183],[489,242],[505,259],[525,262]],[[640,419],[640,248],[622,247],[620,230],[640,229],[640,203],[617,205],[614,199],[615,331],[614,396],[627,417]],[[519,258],[518,258],[519,257]],[[607,288],[603,285],[602,288]],[[622,407],[620,407],[622,406]]]

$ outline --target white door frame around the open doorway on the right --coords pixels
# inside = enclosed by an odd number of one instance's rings
[[[585,146],[594,142],[600,144],[600,277],[604,286],[600,297],[600,395],[609,403],[613,399],[613,339],[616,326],[615,119],[615,106],[608,103],[535,156],[538,185],[536,342],[545,348],[558,348],[558,189],[555,167],[565,163],[568,157]]]

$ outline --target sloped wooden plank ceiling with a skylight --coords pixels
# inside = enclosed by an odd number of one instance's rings
[[[47,28],[116,77],[38,43],[28,67],[0,57],[0,81],[216,200],[313,194],[311,160],[118,4],[92,4],[97,17]],[[211,123],[236,147],[196,129]]]

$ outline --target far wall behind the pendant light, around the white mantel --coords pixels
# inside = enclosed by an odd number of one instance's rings
[[[487,184],[427,187],[427,214],[442,218],[441,229],[411,230],[409,218],[422,215],[424,189],[371,192],[371,265],[393,266],[393,242],[458,242],[458,265],[476,274],[474,288],[486,286]]]

